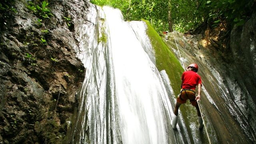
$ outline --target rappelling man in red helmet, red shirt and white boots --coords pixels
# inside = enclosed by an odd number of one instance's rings
[[[199,122],[199,128],[203,128],[203,120],[201,117],[200,109],[198,106],[197,101],[200,100],[200,94],[201,94],[201,85],[202,80],[201,77],[197,74],[198,71],[198,65],[197,64],[190,64],[188,66],[187,71],[183,72],[181,77],[181,90],[180,94],[178,95],[177,102],[175,104],[174,108],[174,117],[171,121],[172,128],[176,128],[176,124],[178,122],[178,109],[181,104],[186,103],[186,101],[189,99],[192,106],[196,107],[197,115],[198,115],[198,122]],[[196,86],[198,87],[198,94],[196,96]],[[202,115],[203,116],[203,115]],[[204,117],[204,116],[203,116]]]

